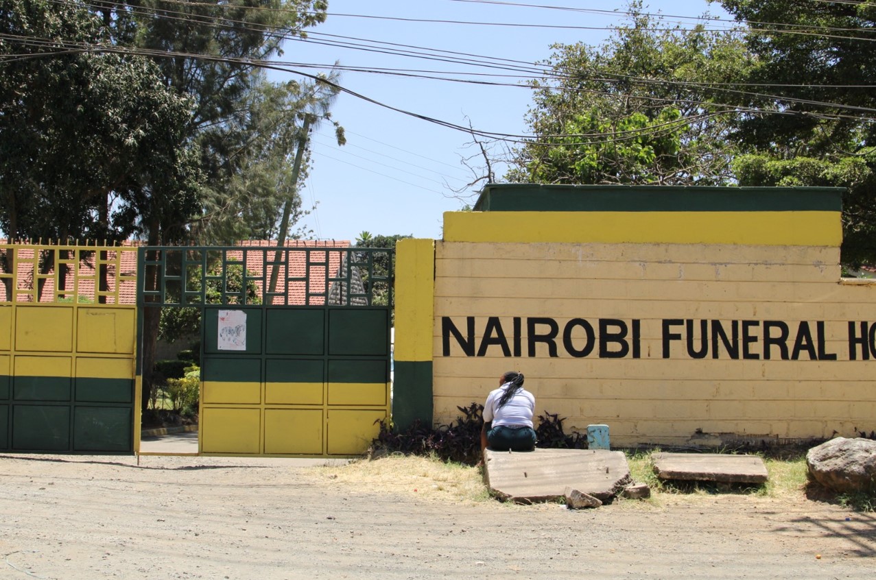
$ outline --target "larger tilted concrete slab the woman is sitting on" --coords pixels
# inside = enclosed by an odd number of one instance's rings
[[[518,503],[555,501],[567,487],[605,502],[630,482],[630,467],[622,452],[608,449],[487,449],[484,478],[493,495]]]

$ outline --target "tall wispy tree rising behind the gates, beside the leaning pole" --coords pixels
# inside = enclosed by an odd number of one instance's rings
[[[165,84],[194,102],[182,130],[199,147],[207,187],[204,212],[194,216],[188,236],[225,244],[267,237],[276,233],[277,207],[286,199],[293,223],[303,216],[284,146],[302,126],[300,113],[330,103],[333,91],[320,82],[272,85],[252,62],[281,54],[285,39],[323,22],[325,0],[93,5],[117,46],[154,55]]]

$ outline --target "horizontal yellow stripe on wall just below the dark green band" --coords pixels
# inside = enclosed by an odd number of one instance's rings
[[[447,242],[838,246],[842,237],[838,211],[444,214]]]

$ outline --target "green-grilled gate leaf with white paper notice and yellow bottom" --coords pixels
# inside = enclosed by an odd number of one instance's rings
[[[201,311],[199,453],[368,448],[390,409],[392,251],[144,247],[138,265],[140,308]]]

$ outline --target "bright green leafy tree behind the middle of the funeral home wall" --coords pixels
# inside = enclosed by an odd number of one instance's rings
[[[512,181],[718,185],[731,180],[725,82],[751,66],[736,33],[667,29],[632,2],[632,23],[600,46],[555,45],[533,81]]]

